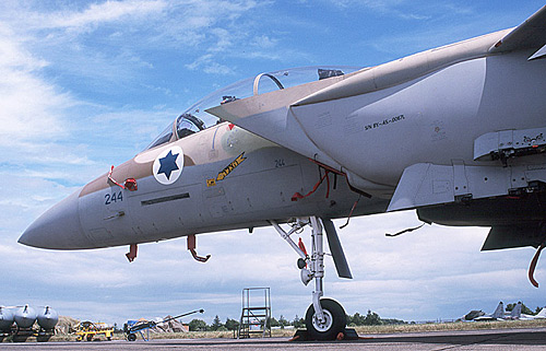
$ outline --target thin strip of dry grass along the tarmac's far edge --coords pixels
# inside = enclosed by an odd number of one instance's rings
[[[449,330],[487,330],[487,329],[508,329],[508,328],[539,328],[546,327],[545,319],[537,320],[506,320],[506,321],[472,321],[472,323],[430,323],[430,324],[404,324],[385,326],[359,326],[355,327],[360,336],[377,334],[397,334],[397,332],[424,332],[424,331],[449,331]],[[295,329],[274,329],[272,337],[290,338]],[[190,331],[190,332],[165,332],[150,334],[151,339],[232,339],[233,331]],[[138,337],[140,339],[140,336]],[[104,337],[100,337],[105,340]],[[122,334],[114,335],[114,340],[124,339]],[[73,335],[59,335],[51,337],[50,341],[74,341]],[[34,341],[34,340],[33,340]],[[86,342],[86,341],[82,341]]]

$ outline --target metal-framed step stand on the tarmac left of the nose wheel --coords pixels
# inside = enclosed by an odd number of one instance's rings
[[[270,288],[247,288],[242,290],[242,312],[237,339],[248,339],[252,335],[271,338]]]

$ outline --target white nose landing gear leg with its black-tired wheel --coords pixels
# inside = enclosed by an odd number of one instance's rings
[[[324,278],[324,246],[322,221],[317,217],[296,219],[289,223],[292,230],[285,232],[275,221],[270,221],[278,234],[300,256],[298,268],[301,270],[301,282],[307,285],[314,279],[312,304],[307,308],[306,327],[309,339],[333,340],[343,332],[346,325],[346,315],[343,306],[331,299],[321,299],[323,295],[322,278]],[[292,238],[290,235],[301,232],[306,225],[311,226],[311,253],[307,255]]]

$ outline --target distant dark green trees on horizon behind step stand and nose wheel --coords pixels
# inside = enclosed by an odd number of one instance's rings
[[[401,319],[392,318],[381,318],[377,313],[368,309],[366,315],[360,315],[358,312],[354,315],[347,315],[347,326],[378,326],[378,325],[390,325],[390,324],[406,324],[406,321]],[[216,315],[212,324],[206,324],[203,319],[192,319],[189,324],[190,331],[227,331],[237,330],[239,328],[239,321],[236,319],[226,318],[225,323]],[[278,319],[271,317],[269,320],[271,327],[281,327],[282,329],[286,327],[294,328],[305,328],[305,319],[301,317],[294,317],[294,319],[288,320],[283,315]]]

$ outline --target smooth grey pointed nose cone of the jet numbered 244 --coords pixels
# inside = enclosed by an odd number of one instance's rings
[[[80,190],[75,191],[41,214],[19,243],[39,248],[81,248],[87,238],[80,224],[79,194]]]

